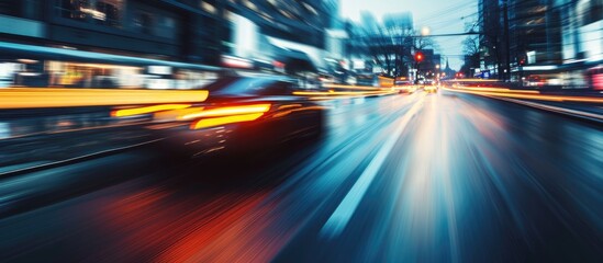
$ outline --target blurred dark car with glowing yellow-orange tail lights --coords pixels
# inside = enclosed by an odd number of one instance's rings
[[[202,105],[156,113],[156,127],[168,138],[165,147],[198,156],[224,150],[252,153],[317,138],[324,108],[293,95],[297,83],[287,77],[223,77],[203,87],[210,94]],[[165,129],[166,124],[176,125]]]

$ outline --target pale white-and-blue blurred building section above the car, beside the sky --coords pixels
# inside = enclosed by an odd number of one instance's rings
[[[325,67],[330,36],[338,36],[327,34],[333,21],[325,14],[336,5],[319,0],[232,0],[225,4],[232,34],[224,42],[233,58],[287,72]]]

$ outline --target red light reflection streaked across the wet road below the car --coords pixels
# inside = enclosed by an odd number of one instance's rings
[[[220,194],[212,199],[169,194],[165,185],[155,186],[98,204],[104,231],[129,229],[111,244],[127,248],[127,255],[109,253],[105,260],[136,261],[131,256],[149,253],[154,262],[267,262],[277,253],[275,242],[282,238],[261,236],[273,224],[265,217],[271,207],[260,206],[266,193]],[[166,202],[170,205],[157,210]]]

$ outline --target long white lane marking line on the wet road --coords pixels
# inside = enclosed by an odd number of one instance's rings
[[[388,138],[388,140],[381,146],[375,158],[370,161],[367,169],[358,178],[358,181],[351,186],[347,195],[344,197],[337,209],[333,211],[333,215],[325,222],[321,229],[320,235],[325,238],[335,238],[342,233],[342,231],[347,226],[349,219],[354,215],[354,211],[360,204],[360,201],[365,196],[368,187],[370,186],[372,180],[379,172],[381,165],[390,155],[391,150],[395,146],[395,142],[402,135],[402,132],[406,128],[409,122],[412,117],[421,110],[423,106],[423,101],[425,96],[422,96],[412,107],[402,116],[400,123],[395,127],[394,132]]]

